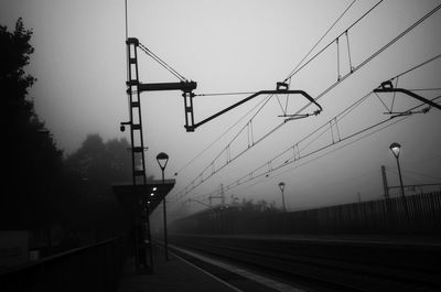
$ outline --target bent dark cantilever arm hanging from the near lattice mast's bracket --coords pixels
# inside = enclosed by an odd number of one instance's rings
[[[240,101],[238,101],[238,102],[236,102],[236,104],[234,104],[234,105],[232,105],[232,106],[229,106],[229,107],[227,107],[227,108],[214,113],[213,116],[211,116],[211,117],[208,117],[208,118],[206,118],[206,119],[204,119],[204,120],[202,120],[200,122],[196,122],[196,123],[193,123],[193,125],[185,125],[185,129],[186,129],[186,131],[192,132],[197,127],[201,127],[202,125],[204,125],[204,123],[217,118],[218,116],[220,116],[220,115],[223,115],[223,113],[225,113],[225,112],[227,112],[227,111],[240,106],[241,104],[245,104],[245,102],[251,100],[252,98],[255,98],[255,97],[257,97],[259,95],[282,95],[282,94],[284,94],[284,95],[288,95],[288,94],[302,95],[303,97],[305,97],[309,101],[311,101],[312,104],[314,104],[319,108],[316,113],[319,113],[320,111],[323,110],[322,106],[320,106],[309,94],[306,94],[303,90],[288,90],[288,89],[261,90],[261,91],[258,91],[258,93],[256,93],[254,95],[248,96],[247,98],[244,98],[243,100],[240,100]],[[191,112],[191,113],[193,115],[193,112]]]

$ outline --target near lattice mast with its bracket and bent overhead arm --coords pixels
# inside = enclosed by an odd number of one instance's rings
[[[302,115],[284,115],[284,121],[305,118],[311,115],[319,115],[322,111],[322,107],[305,91],[303,90],[290,90],[289,85],[286,83],[278,83],[276,90],[261,90],[257,91],[245,99],[205,118],[200,122],[194,120],[194,108],[193,98],[196,96],[193,90],[196,89],[197,83],[187,80],[185,77],[180,75],[175,69],[169,66],[165,62],[154,55],[149,48],[139,42],[136,37],[127,37],[127,95],[129,98],[129,121],[120,123],[120,130],[125,131],[126,126],[130,129],[131,140],[131,160],[132,160],[132,188],[141,190],[139,202],[136,202],[141,210],[141,217],[146,218],[146,235],[142,230],[142,223],[136,221],[135,227],[135,249],[136,249],[136,266],[138,271],[152,272],[153,260],[152,260],[152,246],[151,246],[151,230],[149,215],[152,206],[150,205],[149,197],[147,194],[147,172],[146,172],[146,150],[143,131],[142,131],[142,115],[141,115],[141,93],[143,91],[169,91],[169,90],[181,90],[184,97],[184,111],[185,111],[185,126],[187,132],[194,132],[194,130],[202,125],[224,115],[225,112],[258,97],[260,95],[301,95],[306,98],[311,104],[314,104],[318,109],[311,113]],[[142,50],[146,54],[151,56],[154,61],[160,63],[165,69],[172,73],[180,79],[178,83],[141,83],[139,80],[139,63],[138,63],[138,48]],[[288,97],[287,97],[288,98]],[[135,191],[131,191],[135,192]],[[132,194],[135,197],[135,193]],[[165,195],[163,201],[165,199]],[[144,236],[147,238],[144,238]],[[140,242],[147,242],[147,247]],[[149,260],[146,259],[146,251],[148,251]]]

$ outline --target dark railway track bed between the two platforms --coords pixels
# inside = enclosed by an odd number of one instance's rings
[[[441,291],[441,245],[173,235],[176,246],[312,291]]]

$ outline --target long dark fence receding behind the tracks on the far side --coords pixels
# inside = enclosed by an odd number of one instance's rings
[[[298,212],[218,208],[173,223],[187,234],[441,234],[441,193]]]

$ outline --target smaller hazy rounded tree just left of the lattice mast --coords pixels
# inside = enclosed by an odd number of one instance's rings
[[[120,223],[119,206],[111,185],[131,182],[130,144],[126,139],[103,141],[99,134],[88,134],[82,147],[68,155],[66,166],[77,177],[77,193],[85,202],[83,226],[100,232],[114,232]]]

